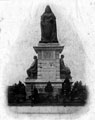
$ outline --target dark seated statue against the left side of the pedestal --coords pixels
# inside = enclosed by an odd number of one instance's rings
[[[31,67],[27,70],[28,78],[36,79],[37,78],[37,56],[34,56],[34,62]]]

